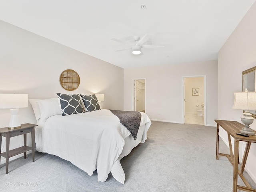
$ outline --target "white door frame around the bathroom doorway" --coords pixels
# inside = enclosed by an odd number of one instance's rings
[[[182,76],[182,123],[184,124],[184,118],[185,118],[185,81],[184,78],[189,77],[204,77],[204,126],[207,125],[207,110],[206,110],[206,75],[190,75],[190,76]]]

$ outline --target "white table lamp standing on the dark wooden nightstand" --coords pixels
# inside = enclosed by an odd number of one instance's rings
[[[8,129],[20,128],[19,108],[28,107],[28,94],[0,94],[0,109],[10,109],[11,119]]]

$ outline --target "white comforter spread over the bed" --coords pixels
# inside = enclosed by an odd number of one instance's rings
[[[146,124],[142,136],[144,142],[151,122],[145,113],[141,114],[140,125]],[[90,176],[97,169],[98,181],[104,182],[118,161],[124,138],[129,135],[130,132],[110,110],[55,115],[45,122],[38,122],[36,150],[68,160]]]

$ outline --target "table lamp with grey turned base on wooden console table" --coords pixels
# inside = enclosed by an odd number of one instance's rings
[[[245,89],[244,92],[235,92],[234,96],[234,105],[232,109],[244,110],[244,115],[241,117],[241,121],[245,126],[240,132],[254,135],[255,133],[250,128],[250,124],[253,123],[254,118],[251,116],[252,114],[250,114],[249,110],[256,110],[256,92],[248,92],[248,90]]]

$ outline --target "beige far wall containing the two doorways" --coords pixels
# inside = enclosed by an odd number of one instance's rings
[[[182,76],[206,75],[206,124],[215,126],[217,60],[124,69],[124,110],[132,110],[133,79],[146,78],[146,113],[152,120],[182,123]]]

